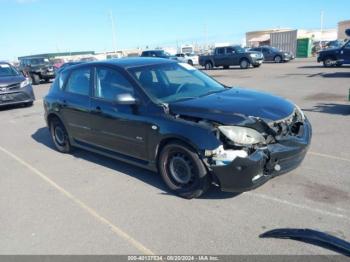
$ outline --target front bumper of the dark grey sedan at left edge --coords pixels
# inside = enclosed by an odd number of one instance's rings
[[[30,103],[34,101],[35,96],[31,85],[20,89],[0,92],[0,106]]]

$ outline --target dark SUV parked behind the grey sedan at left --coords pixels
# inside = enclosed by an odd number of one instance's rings
[[[49,82],[55,78],[53,64],[45,57],[19,57],[19,70],[30,77],[33,85],[40,84],[40,81]]]

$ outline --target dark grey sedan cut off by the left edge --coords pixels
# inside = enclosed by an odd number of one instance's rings
[[[0,107],[24,104],[33,105],[35,100],[29,79],[11,64],[0,62]]]

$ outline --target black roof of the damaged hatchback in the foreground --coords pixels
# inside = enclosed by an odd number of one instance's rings
[[[107,65],[107,66],[116,66],[122,69],[134,68],[134,67],[143,67],[151,65],[160,65],[160,64],[174,64],[177,63],[175,60],[169,60],[164,58],[149,58],[149,57],[133,57],[133,58],[119,58],[119,59],[110,59],[104,61],[94,61],[87,62],[76,65],[71,68],[77,68],[80,66],[86,65]]]

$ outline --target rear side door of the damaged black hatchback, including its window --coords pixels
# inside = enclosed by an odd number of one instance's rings
[[[91,138],[90,93],[91,67],[73,70],[64,86],[64,94],[58,104],[68,133],[76,140]]]

